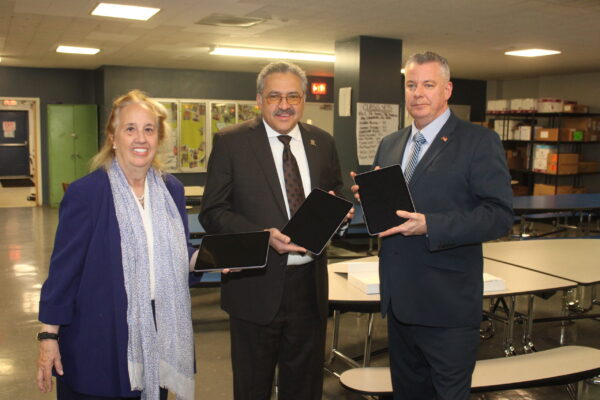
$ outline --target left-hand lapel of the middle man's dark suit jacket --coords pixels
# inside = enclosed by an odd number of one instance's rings
[[[285,209],[283,193],[281,193],[277,168],[275,167],[275,161],[273,160],[273,152],[271,151],[267,131],[260,118],[257,118],[255,123],[250,125],[248,142],[254,156],[263,170],[263,176],[266,178],[269,188],[275,197],[275,202],[277,203],[279,211],[283,214],[284,218],[287,219],[287,210]]]

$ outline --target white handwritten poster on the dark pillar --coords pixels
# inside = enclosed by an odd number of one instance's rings
[[[356,150],[359,165],[372,165],[379,141],[398,130],[398,104],[356,103]]]

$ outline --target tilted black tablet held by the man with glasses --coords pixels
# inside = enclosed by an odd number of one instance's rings
[[[351,208],[348,200],[313,189],[281,232],[298,246],[321,254]]]

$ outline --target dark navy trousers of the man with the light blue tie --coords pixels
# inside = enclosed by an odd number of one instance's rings
[[[388,314],[394,400],[467,400],[479,327],[408,325]]]

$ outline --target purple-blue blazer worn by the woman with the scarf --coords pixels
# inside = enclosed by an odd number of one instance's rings
[[[183,185],[164,175],[189,239]],[[188,248],[193,252],[193,248]],[[127,295],[121,239],[106,171],[73,182],[59,223],[39,319],[60,325],[64,382],[76,392],[106,397],[132,392],[127,368]]]

